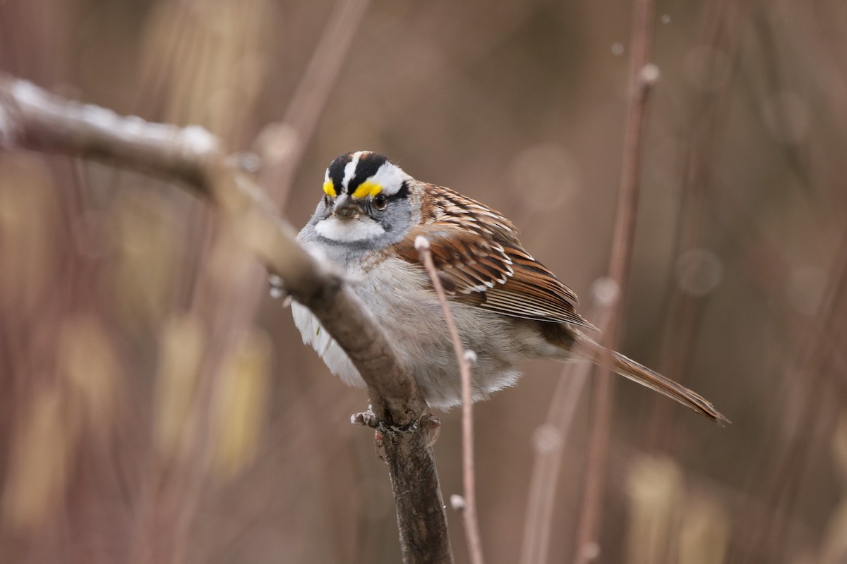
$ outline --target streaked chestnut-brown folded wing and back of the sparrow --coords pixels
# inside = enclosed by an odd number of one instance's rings
[[[574,311],[576,294],[523,249],[505,217],[450,189],[424,189],[436,197],[423,210],[424,222],[397,244],[398,255],[419,264],[414,240],[423,235],[452,298],[503,315],[593,328]]]

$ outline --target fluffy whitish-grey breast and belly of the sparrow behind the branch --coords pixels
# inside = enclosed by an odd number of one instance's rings
[[[429,406],[446,409],[461,403],[456,356],[438,298],[428,289],[424,272],[403,260],[388,259],[350,287],[395,344]],[[515,366],[519,361],[552,353],[534,322],[455,301],[451,312],[465,347],[477,354],[474,400],[512,386],[520,375]],[[318,351],[333,374],[351,386],[365,386],[346,353],[307,308],[292,302],[291,313],[303,342]]]

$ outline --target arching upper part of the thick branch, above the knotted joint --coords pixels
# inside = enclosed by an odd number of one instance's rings
[[[234,223],[241,242],[282,277],[291,296],[312,309],[350,355],[368,382],[375,413],[396,425],[424,413],[424,400],[385,334],[340,277],[296,244],[291,227],[268,209],[250,179],[230,167],[212,134],[63,101],[22,80],[3,79],[0,96],[7,145],[133,167],[179,180],[212,199]]]

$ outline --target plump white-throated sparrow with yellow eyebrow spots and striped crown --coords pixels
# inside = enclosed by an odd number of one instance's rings
[[[416,180],[374,151],[336,157],[323,191],[296,240],[346,273],[429,408],[460,404],[462,385],[444,312],[415,248],[419,237],[429,242],[462,346],[476,357],[473,401],[515,385],[528,359],[582,359],[728,423],[704,397],[589,337],[595,327],[577,313],[576,294],[523,248],[517,228],[499,211]],[[329,370],[364,387],[309,309],[293,301],[291,313],[303,342]]]

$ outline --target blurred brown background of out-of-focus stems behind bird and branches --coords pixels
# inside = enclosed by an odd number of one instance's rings
[[[7,0],[0,68],[201,124],[233,152],[285,120],[294,165],[264,185],[296,227],[333,157],[384,152],[506,212],[587,311],[611,244],[631,16],[583,0]],[[600,561],[847,561],[847,4],[667,0],[654,22],[621,347],[733,424],[616,381]],[[344,57],[307,72],[318,46]],[[561,370],[531,363],[476,408],[490,563],[521,557]],[[396,562],[385,465],[349,423],[367,404],[204,202],[0,154],[0,561]],[[576,550],[590,391],[577,406],[548,561]],[[449,497],[460,413],[440,415]]]

